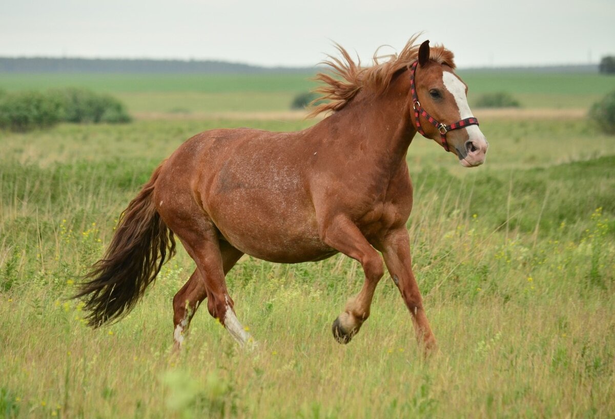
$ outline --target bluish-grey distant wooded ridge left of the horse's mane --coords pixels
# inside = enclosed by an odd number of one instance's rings
[[[225,61],[125,60],[107,58],[0,57],[0,72],[17,73],[199,73],[259,74],[314,72],[314,68],[260,67]]]

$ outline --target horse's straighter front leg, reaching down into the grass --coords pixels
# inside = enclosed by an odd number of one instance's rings
[[[423,343],[427,351],[435,350],[435,337],[429,327],[429,321],[427,321],[423,308],[423,297],[421,297],[415,275],[412,272],[410,238],[405,226],[387,235],[382,250],[384,263],[412,315],[416,339],[419,343]]]

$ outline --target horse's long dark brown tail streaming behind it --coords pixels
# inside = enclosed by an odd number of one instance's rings
[[[164,164],[164,163],[163,163]],[[73,298],[87,296],[85,317],[92,327],[118,320],[135,307],[162,265],[175,254],[173,232],[162,221],[153,201],[162,165],[130,202],[103,259],[92,266]]]

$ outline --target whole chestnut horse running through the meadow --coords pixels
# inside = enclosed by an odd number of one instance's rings
[[[174,253],[177,235],[196,262],[173,298],[177,349],[204,299],[240,345],[252,342],[224,280],[242,255],[290,264],[338,252],[358,260],[365,273],[363,288],[333,322],[338,342],[349,342],[370,315],[384,258],[417,339],[435,348],[412,272],[406,153],[418,131],[462,165],[477,166],[488,143],[467,104],[467,87],[453,72],[453,54],[415,41],[371,67],[354,63],[338,45],[342,58],[327,61],[335,77],[317,76],[328,101],[312,112],[331,114],[311,128],[212,130],[183,143],[130,202],[105,257],[75,296],[87,297],[89,324],[118,319],[135,306]]]

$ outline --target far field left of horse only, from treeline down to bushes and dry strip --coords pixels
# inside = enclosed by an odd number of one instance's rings
[[[130,112],[285,111],[314,74],[0,74],[0,89],[82,87],[121,99]]]

